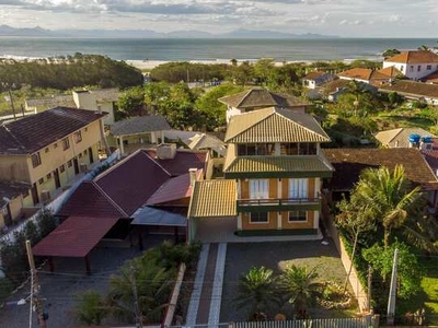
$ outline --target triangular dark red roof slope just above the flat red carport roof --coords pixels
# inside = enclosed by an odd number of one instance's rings
[[[128,218],[94,181],[83,181],[57,212],[61,216]]]

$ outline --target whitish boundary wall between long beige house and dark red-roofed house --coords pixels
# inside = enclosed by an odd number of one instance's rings
[[[45,206],[46,209],[50,210],[53,213],[56,213],[62,204],[70,198],[70,196],[74,192],[74,190],[79,187],[82,181],[91,180],[99,173],[99,169],[104,165],[111,165],[115,161],[120,159],[120,152],[116,150],[113,152],[105,161],[102,161],[100,165],[95,166],[92,171],[83,175],[80,179],[78,179],[74,184],[71,185],[66,191],[59,195],[56,199]],[[20,233],[26,226],[27,222],[33,221],[36,223],[36,218],[38,216],[41,210],[37,211],[34,215],[21,222],[19,225],[12,227],[8,233],[0,237],[0,243],[13,243],[15,241],[15,233]]]

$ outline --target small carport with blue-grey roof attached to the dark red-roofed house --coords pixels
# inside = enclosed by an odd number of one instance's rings
[[[140,249],[143,249],[142,242],[142,232],[143,230],[149,231],[151,227],[160,227],[164,229],[164,231],[169,231],[169,229],[173,229],[173,235],[175,238],[175,244],[178,242],[178,233],[181,229],[186,229],[187,219],[182,215],[180,212],[185,212],[184,208],[174,208],[174,211],[161,210],[152,207],[141,207],[139,208],[131,218],[134,219],[130,223],[131,225],[138,225],[143,229],[139,229],[138,234],[138,245]]]

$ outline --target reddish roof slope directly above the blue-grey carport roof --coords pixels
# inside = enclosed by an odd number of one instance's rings
[[[197,175],[203,171],[198,169]],[[188,173],[166,180],[146,202],[147,206],[155,206],[188,198],[192,195],[191,176]]]

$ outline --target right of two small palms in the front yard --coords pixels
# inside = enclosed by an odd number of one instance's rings
[[[320,284],[316,282],[315,269],[291,266],[280,277],[281,288],[288,295],[289,303],[293,304],[299,318],[306,318],[309,304],[316,295]]]

